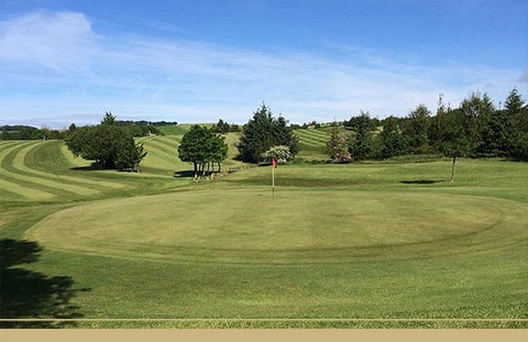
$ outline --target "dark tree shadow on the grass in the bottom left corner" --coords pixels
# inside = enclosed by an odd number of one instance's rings
[[[18,267],[38,260],[42,247],[26,240],[0,240],[0,319],[78,319],[70,304],[78,291],[68,276],[48,277]],[[64,328],[75,322],[0,321],[0,328]]]

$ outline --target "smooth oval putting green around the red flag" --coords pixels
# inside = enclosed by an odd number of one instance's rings
[[[346,263],[504,249],[528,206],[426,192],[204,190],[58,211],[26,232],[46,249],[212,263]]]

